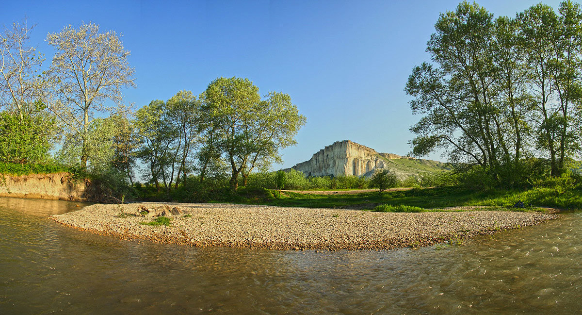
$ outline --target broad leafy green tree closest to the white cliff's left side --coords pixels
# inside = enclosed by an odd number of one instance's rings
[[[215,143],[230,164],[230,187],[238,187],[258,165],[280,159],[279,149],[295,143],[305,123],[289,95],[271,92],[261,100],[249,79],[220,77],[204,92],[204,111],[210,115]]]

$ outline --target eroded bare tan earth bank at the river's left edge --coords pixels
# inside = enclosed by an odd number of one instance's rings
[[[73,179],[69,173],[10,176],[0,174],[0,196],[88,201],[90,182]]]

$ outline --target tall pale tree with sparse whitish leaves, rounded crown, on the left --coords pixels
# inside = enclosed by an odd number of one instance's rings
[[[56,49],[49,75],[54,93],[45,94],[44,102],[79,138],[81,167],[87,167],[88,132],[95,114],[112,112],[106,104],[121,104],[123,87],[134,87],[134,69],[129,66],[127,51],[114,31],[100,33],[97,24],[72,26],[47,36]],[[52,95],[56,95],[54,98]]]

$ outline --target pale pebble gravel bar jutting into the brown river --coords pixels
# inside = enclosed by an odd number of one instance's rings
[[[386,250],[429,246],[457,238],[535,225],[555,214],[512,211],[374,213],[360,210],[237,204],[178,204],[170,226],[142,225],[145,217],[118,217],[118,206],[95,204],[52,220],[101,235],[189,246],[264,249]],[[159,203],[126,204],[125,212]]]

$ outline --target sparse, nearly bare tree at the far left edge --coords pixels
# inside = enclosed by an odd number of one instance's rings
[[[44,57],[28,43],[33,28],[25,19],[0,33],[0,105],[17,113],[21,121],[36,111],[34,103],[46,83],[40,75]]]

